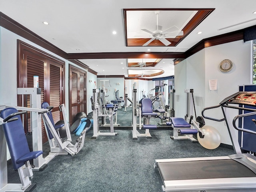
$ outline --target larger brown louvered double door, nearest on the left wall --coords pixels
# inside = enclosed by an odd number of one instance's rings
[[[48,102],[53,108],[54,122],[61,119],[59,105],[64,103],[64,62],[51,57],[24,42],[19,41],[17,87],[34,87],[34,75],[39,76],[41,103]],[[30,107],[30,95],[18,96],[18,105]],[[31,132],[30,114],[24,121],[25,132]],[[42,123],[42,142],[48,141]]]

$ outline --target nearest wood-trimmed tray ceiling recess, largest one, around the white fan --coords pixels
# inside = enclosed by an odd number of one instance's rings
[[[158,19],[156,11],[159,12]],[[214,9],[124,9],[124,27],[126,35],[126,46],[143,46],[148,42],[152,35],[142,31],[147,29],[151,32],[156,31],[156,24],[161,26],[161,30],[167,30],[176,26],[178,30],[182,30],[182,36],[167,38],[171,42],[168,46],[176,46],[180,43],[196,26],[198,26]],[[176,28],[175,27],[175,28]],[[153,40],[148,46],[165,46],[159,40]]]

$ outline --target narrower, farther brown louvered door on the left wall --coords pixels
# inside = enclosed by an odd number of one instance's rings
[[[70,92],[70,123],[74,122],[74,117],[78,112],[86,113],[86,71],[70,66],[69,75]],[[87,113],[86,113],[87,114]]]

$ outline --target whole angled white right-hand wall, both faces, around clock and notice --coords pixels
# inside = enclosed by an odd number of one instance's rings
[[[238,91],[238,85],[250,84],[251,43],[242,40],[212,46],[197,52],[174,66],[175,71],[175,113],[184,117],[186,102],[184,89],[194,89],[196,114],[201,116],[205,107],[218,105],[224,98]],[[229,59],[234,63],[230,72],[221,72],[219,63]],[[217,90],[209,90],[209,80],[217,79]],[[232,120],[237,110],[226,109],[227,119],[232,128]],[[206,116],[223,118],[221,109],[207,111]],[[224,122],[205,120],[206,125],[214,126],[221,134],[222,143],[232,145]]]

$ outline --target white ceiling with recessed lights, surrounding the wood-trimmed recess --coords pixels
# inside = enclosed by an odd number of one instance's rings
[[[176,47],[127,47],[123,9],[130,8],[215,10]],[[256,0],[0,0],[0,12],[67,53],[148,52],[148,48],[150,52],[185,52],[204,38],[256,25],[254,11]],[[156,26],[156,19],[152,23],[145,28]],[[98,75],[127,75],[126,58],[80,61]],[[172,59],[163,59],[154,68],[165,71],[161,76],[174,75]]]

